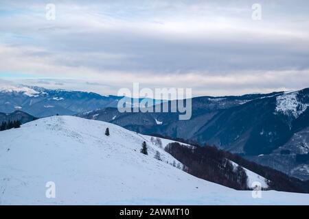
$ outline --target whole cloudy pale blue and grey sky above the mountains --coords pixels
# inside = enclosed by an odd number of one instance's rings
[[[309,87],[309,1],[0,0],[0,60],[2,83],[104,95],[133,83],[298,90]]]

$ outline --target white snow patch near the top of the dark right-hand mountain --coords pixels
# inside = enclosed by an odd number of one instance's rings
[[[297,94],[298,92],[286,92],[277,96],[275,111],[286,116],[294,116],[295,118],[298,118],[298,116],[307,110],[309,105],[298,101]]]

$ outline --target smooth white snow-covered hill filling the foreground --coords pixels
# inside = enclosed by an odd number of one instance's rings
[[[105,136],[109,127],[111,136]],[[147,141],[149,155],[139,153]],[[163,144],[169,140],[162,140]],[[161,153],[163,161],[153,156]],[[175,159],[142,136],[73,116],[35,120],[0,132],[0,204],[308,205],[308,194],[236,191],[167,164]],[[56,198],[46,198],[47,181]]]

